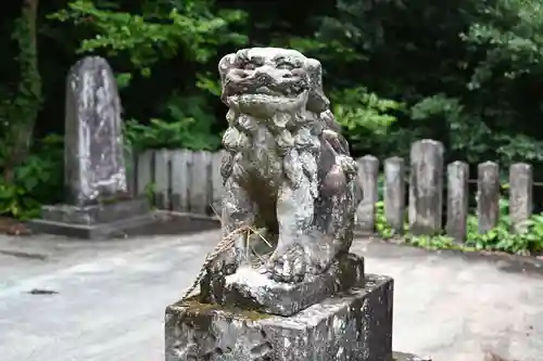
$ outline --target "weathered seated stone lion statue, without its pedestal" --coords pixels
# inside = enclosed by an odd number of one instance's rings
[[[223,235],[264,228],[275,249],[265,273],[295,283],[349,252],[362,189],[357,164],[323,92],[321,66],[290,49],[252,48],[218,65],[229,107],[223,145]],[[245,240],[212,270],[231,274]]]

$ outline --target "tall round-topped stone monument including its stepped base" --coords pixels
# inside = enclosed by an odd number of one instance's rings
[[[64,139],[65,204],[43,206],[34,232],[101,238],[154,221],[147,199],[128,190],[121,100],[103,57],[70,69]]]

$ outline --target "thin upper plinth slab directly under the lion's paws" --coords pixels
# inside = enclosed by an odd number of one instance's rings
[[[364,281],[364,259],[349,255],[341,259],[341,265],[336,261],[325,273],[294,284],[269,280],[261,271],[245,266],[227,276],[219,302],[262,313],[292,315],[361,284]]]

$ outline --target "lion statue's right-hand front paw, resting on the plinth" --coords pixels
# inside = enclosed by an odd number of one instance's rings
[[[305,279],[306,269],[303,248],[294,246],[287,252],[274,252],[266,265],[266,275],[276,282],[298,283]]]

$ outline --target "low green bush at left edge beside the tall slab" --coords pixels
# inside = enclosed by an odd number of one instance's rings
[[[42,204],[60,201],[63,184],[63,141],[49,136],[15,167],[12,182],[0,180],[0,215],[22,220],[35,218]]]

